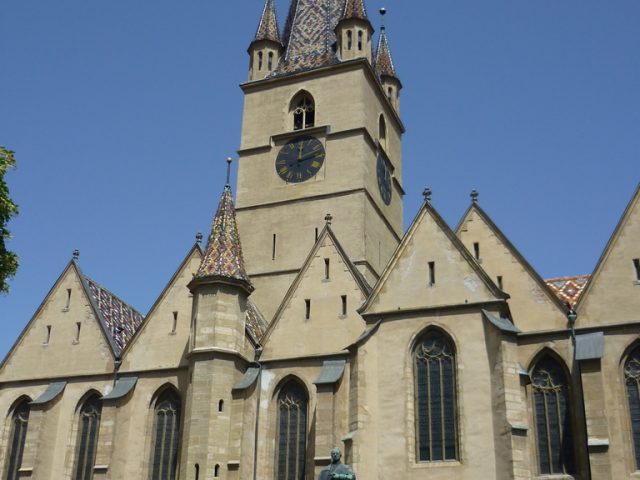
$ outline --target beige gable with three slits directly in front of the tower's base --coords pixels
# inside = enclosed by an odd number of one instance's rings
[[[344,349],[365,328],[357,313],[365,298],[362,279],[333,233],[325,228],[267,331],[262,358],[317,355]]]

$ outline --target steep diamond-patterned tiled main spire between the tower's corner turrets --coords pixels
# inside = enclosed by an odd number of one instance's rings
[[[292,0],[284,30],[285,54],[272,75],[338,63],[334,29],[343,11],[344,0]]]

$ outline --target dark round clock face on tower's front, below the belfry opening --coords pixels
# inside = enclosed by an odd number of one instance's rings
[[[300,183],[313,177],[324,163],[320,140],[302,135],[289,140],[278,153],[276,172],[285,182]]]

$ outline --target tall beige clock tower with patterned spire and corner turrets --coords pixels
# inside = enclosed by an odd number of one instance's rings
[[[266,24],[277,25],[271,0],[259,34]],[[386,34],[374,57],[373,33],[364,0],[292,0],[284,31],[270,33],[274,49],[282,42],[273,70],[255,73],[264,39],[249,49],[236,206],[253,298],[268,320],[327,213],[370,284],[403,234],[404,126],[389,72],[376,68],[391,61]],[[392,81],[399,90],[395,71]]]

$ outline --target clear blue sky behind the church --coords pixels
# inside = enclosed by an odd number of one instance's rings
[[[4,0],[0,144],[21,258],[4,356],[71,258],[145,313],[207,231],[239,146],[262,0]],[[283,17],[288,0],[277,0]],[[368,1],[374,25],[381,3]],[[388,0],[405,226],[472,188],[546,278],[589,273],[640,181],[640,2]]]

